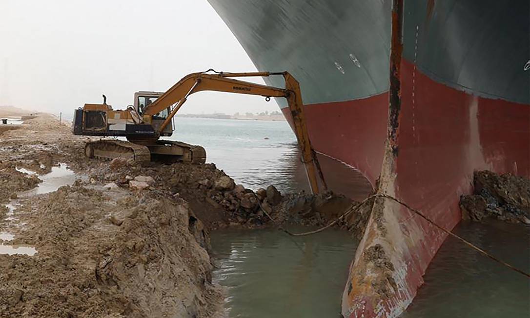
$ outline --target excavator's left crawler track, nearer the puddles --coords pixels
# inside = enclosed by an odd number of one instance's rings
[[[146,146],[113,139],[87,142],[85,145],[85,156],[110,160],[122,157],[133,159],[135,162],[149,162],[151,160],[151,153]]]

